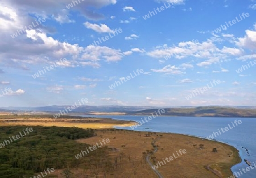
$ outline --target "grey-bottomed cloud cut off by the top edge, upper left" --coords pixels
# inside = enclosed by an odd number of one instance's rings
[[[79,6],[76,5],[72,8],[68,6],[72,3],[70,0],[37,1],[36,3],[30,0],[23,0],[22,2],[19,0],[3,0],[3,3],[19,10],[19,14],[31,13],[37,16],[52,18],[58,22],[69,23],[69,11],[76,11],[90,20],[104,19],[104,15],[97,13],[98,9],[104,6],[115,5],[117,0],[84,1],[79,3]],[[63,13],[63,9],[67,12]]]

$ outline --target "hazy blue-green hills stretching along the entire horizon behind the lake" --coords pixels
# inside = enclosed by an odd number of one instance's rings
[[[68,106],[43,106],[43,107],[6,107],[0,111],[43,111],[47,113],[56,113],[64,110]],[[125,115],[150,115],[161,107],[154,106],[80,106],[69,112],[79,115],[93,113],[123,113]],[[183,117],[255,117],[255,106],[181,106],[181,107],[162,107],[166,110],[163,115],[183,116]]]

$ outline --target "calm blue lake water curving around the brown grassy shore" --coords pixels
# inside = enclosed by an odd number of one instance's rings
[[[82,116],[92,117],[92,115]],[[141,121],[141,118],[147,116],[97,115],[93,117]],[[233,127],[232,122],[234,123],[235,120],[241,120],[242,123]],[[240,172],[240,169],[242,170],[242,168],[249,167],[243,159],[247,159],[249,162],[256,164],[256,118],[156,117],[134,130],[178,133],[206,138],[207,136],[212,135],[213,131],[217,132],[218,129],[220,130],[221,128],[228,127],[228,125],[233,127],[233,129],[221,133],[221,135],[216,136],[214,139],[228,143],[240,151],[242,163],[232,167],[233,173]],[[117,129],[121,128],[131,130],[130,127],[117,127]],[[238,177],[255,178],[256,168],[250,169],[250,171],[243,173],[243,175]]]

